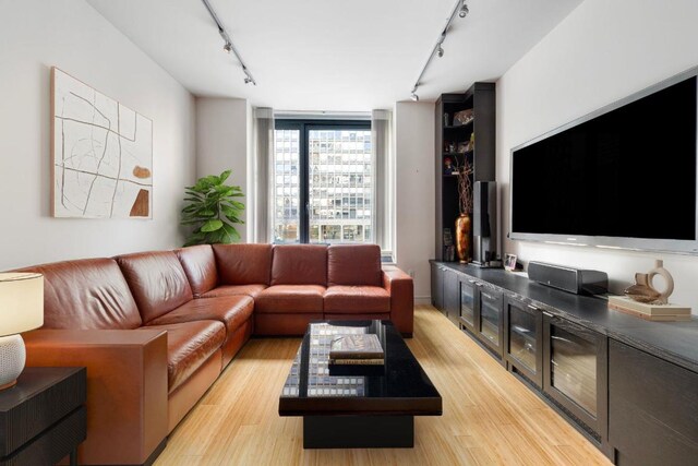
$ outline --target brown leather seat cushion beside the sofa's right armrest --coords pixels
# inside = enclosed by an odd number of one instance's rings
[[[390,294],[377,286],[330,286],[325,291],[325,313],[390,312]]]

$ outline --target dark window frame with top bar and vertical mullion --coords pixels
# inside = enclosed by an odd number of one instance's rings
[[[300,244],[310,243],[310,147],[309,134],[313,130],[368,130],[371,131],[371,120],[318,120],[318,119],[276,119],[274,121],[274,130],[298,130],[299,136],[299,218],[298,218],[298,239]],[[373,141],[371,141],[373,144]],[[375,170],[375,160],[371,162],[372,171]],[[373,179],[375,183],[375,179]],[[375,191],[375,187],[374,187]],[[274,196],[272,196],[274,198]],[[373,200],[371,210],[372,216],[375,215],[375,200]],[[274,224],[272,225],[272,235]],[[372,232],[375,235],[375,232]],[[375,242],[375,240],[374,240]]]

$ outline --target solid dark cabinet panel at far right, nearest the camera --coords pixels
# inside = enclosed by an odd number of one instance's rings
[[[611,339],[609,442],[617,464],[696,464],[698,374]]]

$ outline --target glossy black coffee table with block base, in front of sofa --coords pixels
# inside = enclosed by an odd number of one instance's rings
[[[374,333],[385,366],[329,367],[334,335]],[[389,321],[309,325],[279,397],[280,416],[303,417],[305,449],[414,446],[414,416],[441,416],[442,399]]]

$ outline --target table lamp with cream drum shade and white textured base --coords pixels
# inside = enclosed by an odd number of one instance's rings
[[[0,273],[0,390],[17,383],[26,350],[20,333],[44,325],[44,276]]]

